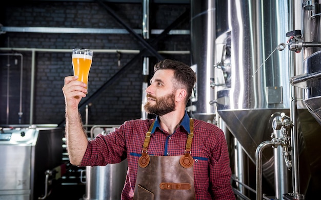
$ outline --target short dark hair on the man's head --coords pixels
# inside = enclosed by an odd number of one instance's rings
[[[196,82],[196,74],[192,68],[182,62],[172,61],[171,59],[164,59],[154,66],[154,72],[160,69],[174,70],[174,83],[177,87],[183,87],[187,91],[186,103],[192,95],[193,87]],[[175,86],[176,87],[176,86]]]

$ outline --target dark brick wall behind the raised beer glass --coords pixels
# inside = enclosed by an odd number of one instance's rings
[[[142,29],[142,4],[108,4],[132,29]],[[150,28],[165,29],[189,5],[152,4]],[[37,2],[22,4],[8,3],[1,8],[0,24],[4,27],[74,27],[123,29],[107,11],[96,3],[78,2]],[[175,29],[189,30],[189,20]],[[157,35],[151,35],[151,39]],[[30,33],[7,32],[0,34],[0,48],[49,49],[35,52],[35,90],[31,94],[31,51],[0,51],[0,54],[19,53],[20,56],[0,55],[0,124],[64,123],[64,77],[72,75],[71,49],[75,47],[93,49],[140,50],[142,45],[131,34],[74,34],[74,33]],[[157,50],[189,50],[189,35],[168,35],[157,45]],[[70,49],[70,52],[51,52],[52,49]],[[164,58],[176,59],[190,64],[189,54],[163,54]],[[89,124],[121,124],[132,118],[141,117],[142,82],[144,77],[143,57],[136,54],[121,55],[121,66],[117,65],[116,53],[95,53],[89,75],[89,94],[81,102],[89,106]],[[150,73],[157,58],[150,57]],[[19,121],[20,75],[23,65],[22,118]],[[9,66],[9,67],[8,67]],[[115,81],[110,78],[123,66],[128,66]],[[9,72],[9,76],[8,76]],[[8,81],[9,78],[9,81]],[[9,90],[8,90],[9,83]],[[108,86],[99,90],[105,83]],[[8,93],[9,91],[9,114]],[[99,95],[90,100],[90,96]],[[98,93],[98,92],[97,92]],[[30,96],[34,98],[30,115]],[[89,99],[89,100],[88,100]],[[83,106],[85,108],[85,106]],[[81,109],[85,120],[85,109]],[[9,117],[9,118],[8,118]]]

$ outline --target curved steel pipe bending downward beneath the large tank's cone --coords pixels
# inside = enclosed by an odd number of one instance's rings
[[[255,151],[255,169],[256,169],[256,200],[261,200],[263,198],[262,194],[262,151],[266,147],[272,147],[273,142],[264,141],[259,144]]]

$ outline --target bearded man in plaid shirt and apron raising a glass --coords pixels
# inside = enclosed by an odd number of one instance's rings
[[[70,163],[106,166],[128,160],[122,199],[235,199],[224,133],[186,112],[196,82],[186,64],[165,59],[154,66],[146,112],[107,135],[88,141],[78,104],[87,94],[77,76],[65,77],[66,139]]]

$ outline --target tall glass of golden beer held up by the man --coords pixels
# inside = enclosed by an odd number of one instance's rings
[[[88,75],[92,63],[92,50],[72,49],[73,75],[77,75],[77,81],[84,82],[88,86]],[[87,88],[88,90],[88,88]]]

